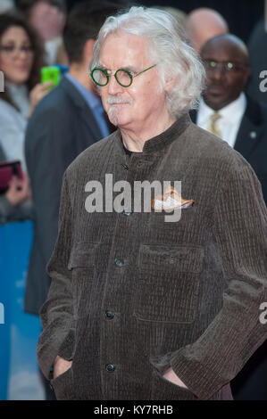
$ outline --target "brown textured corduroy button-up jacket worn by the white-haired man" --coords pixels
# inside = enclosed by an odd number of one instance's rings
[[[166,222],[138,201],[102,211],[99,193],[91,212],[85,185],[104,191],[106,174],[132,191],[136,181],[181,181],[195,206]],[[267,334],[267,209],[246,160],[188,115],[130,158],[117,131],[71,163],[60,213],[38,341],[46,377],[56,355],[72,359],[52,380],[56,397],[231,398],[229,381]],[[188,389],[163,379],[170,366]]]

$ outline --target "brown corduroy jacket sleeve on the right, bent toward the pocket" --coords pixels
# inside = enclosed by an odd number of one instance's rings
[[[267,301],[267,210],[254,171],[242,159],[221,187],[214,211],[228,287],[213,322],[192,344],[171,354],[171,367],[200,399],[233,379],[267,337],[260,306]]]

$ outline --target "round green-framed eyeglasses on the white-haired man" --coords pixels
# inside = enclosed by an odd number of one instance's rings
[[[139,76],[139,74],[142,74],[147,70],[153,69],[154,66],[156,66],[156,64],[148,67],[148,69],[139,71],[137,74],[134,74],[130,70],[119,69],[115,71],[114,77],[116,78],[116,81],[119,83],[119,85],[122,87],[129,87],[132,84],[133,78]],[[112,71],[102,69],[101,67],[95,67],[90,74],[91,78],[97,86],[106,86],[110,80],[110,77],[112,76]]]

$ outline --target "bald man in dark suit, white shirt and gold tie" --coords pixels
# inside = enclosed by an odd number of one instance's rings
[[[229,143],[245,157],[259,178],[267,201],[267,108],[244,94],[250,74],[246,45],[238,37],[222,35],[207,41],[200,52],[207,75],[196,125]],[[254,353],[232,382],[235,398],[266,399],[267,342]]]

